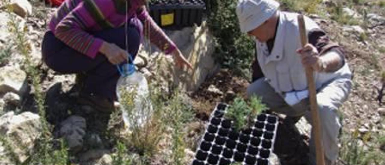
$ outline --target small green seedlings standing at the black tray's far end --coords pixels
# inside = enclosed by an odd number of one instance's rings
[[[224,117],[233,120],[235,130],[241,130],[251,126],[256,116],[266,109],[261,99],[256,96],[251,97],[249,102],[237,97]]]

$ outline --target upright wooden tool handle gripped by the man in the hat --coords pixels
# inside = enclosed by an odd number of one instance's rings
[[[303,15],[298,15],[298,25],[300,26],[301,44],[302,47],[304,47],[306,44],[308,44],[308,37],[306,35],[305,20],[303,19]],[[317,91],[313,78],[313,69],[311,67],[306,67],[306,79],[308,81],[309,86],[311,121],[313,121],[311,123],[311,129],[313,129],[312,136],[314,136],[315,140],[317,165],[325,165],[322,145],[322,130],[320,124],[320,115],[318,114],[318,104],[316,97]]]

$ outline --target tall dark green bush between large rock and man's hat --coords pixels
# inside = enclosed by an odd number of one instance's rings
[[[239,29],[235,13],[237,2],[238,0],[207,1],[208,25],[215,37],[216,60],[242,76],[249,76],[255,44]]]

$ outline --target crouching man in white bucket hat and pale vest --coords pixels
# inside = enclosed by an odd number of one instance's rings
[[[236,14],[241,32],[254,38],[256,61],[248,96],[262,98],[272,111],[311,120],[305,67],[315,71],[317,101],[327,165],[338,157],[341,129],[338,108],[347,99],[352,72],[343,49],[330,42],[326,33],[305,16],[309,44],[301,46],[298,13],[279,10],[274,0],[239,0]],[[298,121],[298,120],[296,120]],[[310,139],[310,165],[315,165],[315,146]],[[282,162],[282,161],[281,161]],[[290,163],[288,163],[290,164]]]

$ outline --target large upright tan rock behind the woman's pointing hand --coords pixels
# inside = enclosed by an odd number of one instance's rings
[[[214,37],[209,32],[208,25],[203,22],[200,27],[186,27],[181,30],[166,31],[182,54],[189,60],[193,69],[175,69],[174,65],[159,67],[161,71],[171,73],[171,83],[174,86],[179,86],[181,90],[196,91],[199,86],[208,78],[219,71],[219,64],[214,61]],[[150,54],[151,59],[156,59],[159,55],[159,50],[154,47],[146,47],[144,44],[144,51]],[[152,52],[149,52],[149,50]],[[151,62],[149,62],[152,64]],[[157,62],[156,65],[160,64]],[[158,65],[161,66],[161,65]],[[156,70],[154,69],[150,71]],[[167,82],[169,82],[167,80]],[[167,86],[167,85],[166,85]]]

